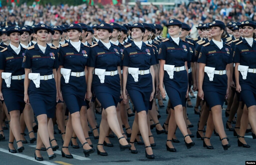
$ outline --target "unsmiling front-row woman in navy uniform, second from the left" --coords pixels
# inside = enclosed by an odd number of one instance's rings
[[[49,143],[47,123],[54,117],[56,102],[59,100],[56,90],[58,52],[56,47],[46,43],[50,32],[46,24],[38,24],[34,32],[37,44],[27,48],[22,64],[25,68],[24,101],[26,104],[31,103],[37,117],[37,145],[34,155],[37,161],[42,161],[40,155],[42,144],[46,147],[49,159],[56,158]]]

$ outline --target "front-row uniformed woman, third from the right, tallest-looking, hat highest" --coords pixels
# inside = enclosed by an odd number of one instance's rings
[[[170,143],[172,142],[172,137],[176,129],[175,122],[184,136],[184,142],[187,149],[195,145],[188,135],[182,108],[186,105],[184,97],[188,97],[187,61],[190,61],[191,58],[188,43],[179,38],[179,34],[182,30],[182,23],[179,20],[172,19],[165,26],[168,28],[170,37],[161,42],[158,51],[160,64],[159,89],[161,95],[165,98],[164,85],[166,93],[170,99],[172,109],[169,120],[166,149],[175,152],[176,149],[173,148],[172,143]],[[175,128],[172,128],[172,126]]]

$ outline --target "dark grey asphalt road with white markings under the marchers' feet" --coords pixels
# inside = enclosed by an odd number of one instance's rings
[[[196,99],[191,99],[193,105],[195,105]],[[165,113],[165,109],[167,106],[167,101],[164,101],[164,108],[159,108],[160,115],[162,116],[159,121],[161,124],[164,123],[167,114]],[[224,105],[223,108],[226,108]],[[225,117],[225,110],[223,113],[223,121],[226,123],[227,118]],[[196,136],[197,130],[197,121],[199,115],[194,114],[194,108],[188,108],[189,120],[194,127],[191,128],[191,132]],[[100,115],[97,115],[97,122],[100,123]],[[134,117],[130,117],[130,126],[132,126],[132,122]],[[234,126],[234,124],[233,124]],[[55,130],[57,131],[57,126],[55,126]],[[229,137],[229,143],[231,147],[224,151],[221,142],[219,141],[219,137],[213,135],[211,137],[211,144],[214,146],[214,150],[209,150],[203,147],[202,141],[200,139],[192,138],[195,142],[195,146],[191,149],[187,149],[185,143],[183,141],[183,136],[179,130],[176,132],[177,138],[180,140],[180,143],[173,143],[174,147],[177,149],[176,153],[171,153],[166,151],[165,142],[167,135],[160,134],[157,135],[154,130],[151,130],[154,138],[156,146],[153,147],[155,159],[150,160],[145,157],[145,148],[144,145],[136,145],[138,150],[138,154],[131,154],[129,150],[120,151],[118,139],[110,138],[110,141],[114,144],[114,147],[104,147],[109,156],[103,157],[97,155],[97,152],[90,154],[89,157],[85,158],[82,152],[81,144],[80,149],[73,149],[69,147],[71,154],[74,156],[73,159],[62,158],[61,151],[61,135],[56,134],[55,138],[58,140],[57,143],[60,146],[55,153],[57,158],[53,160],[48,160],[46,151],[41,151],[42,157],[45,161],[38,162],[34,159],[34,149],[35,144],[24,144],[25,150],[23,153],[10,154],[8,152],[8,130],[5,130],[6,139],[0,142],[0,164],[26,164],[26,165],[40,165],[40,164],[245,164],[246,160],[255,161],[255,151],[256,151],[256,140],[252,139],[251,133],[246,134],[246,141],[251,146],[251,148],[242,148],[237,145],[237,138],[233,136],[233,132],[225,129],[227,136]],[[25,132],[28,134],[27,130]],[[28,140],[29,137],[25,136]],[[98,140],[94,140],[93,136],[91,136],[92,143],[94,148],[97,145]],[[17,146],[15,144],[15,148]]]

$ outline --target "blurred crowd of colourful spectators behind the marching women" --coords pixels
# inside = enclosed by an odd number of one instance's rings
[[[14,14],[10,16],[10,14]],[[196,34],[199,23],[221,20],[224,23],[240,22],[243,20],[256,21],[255,0],[198,0],[181,3],[169,9],[167,6],[154,5],[40,5],[19,6],[1,9],[0,23],[6,26],[8,21],[15,22],[17,26],[32,26],[45,23],[49,26],[83,22],[88,25],[101,22],[130,23],[145,22],[164,25],[170,19],[178,19],[189,24],[191,34]]]

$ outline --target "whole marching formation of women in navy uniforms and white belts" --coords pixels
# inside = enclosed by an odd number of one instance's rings
[[[68,147],[80,148],[77,138],[85,157],[95,150],[108,156],[104,147],[113,147],[109,138],[115,134],[121,151],[138,154],[136,142],[154,159],[154,127],[157,134],[167,134],[167,151],[176,152],[177,128],[187,149],[195,146],[187,107],[193,107],[189,92],[198,91],[194,111],[202,146],[214,149],[214,132],[224,150],[231,147],[222,122],[226,101],[226,129],[237,136],[238,146],[249,148],[245,133],[256,139],[256,24],[215,20],[199,24],[195,39],[189,37],[189,25],[177,19],[165,26],[168,38],[161,36],[161,25],[148,23],[1,28],[0,140],[5,140],[8,121],[9,152],[22,153],[27,127],[29,143],[36,142],[35,159],[44,160],[41,151],[54,159],[53,151],[60,148],[54,137],[57,124],[62,157],[73,158]],[[161,126],[156,100],[164,107],[166,96],[168,116]],[[95,113],[101,114],[99,125]],[[89,134],[99,139],[96,146]]]

